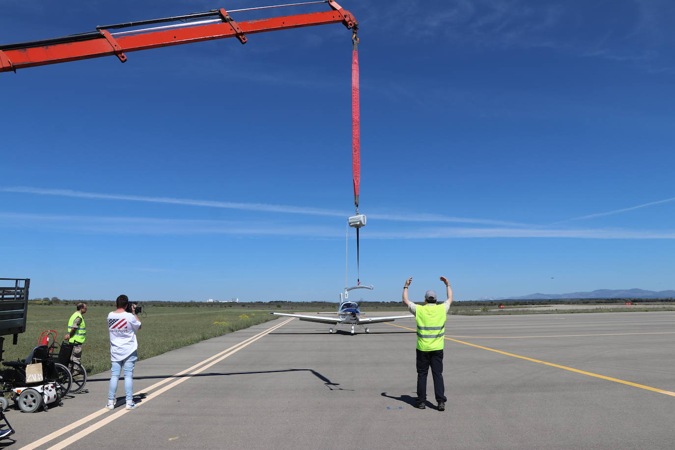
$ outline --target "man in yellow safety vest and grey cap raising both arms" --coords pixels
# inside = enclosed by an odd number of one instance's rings
[[[421,410],[427,407],[427,374],[431,366],[433,391],[438,402],[438,410],[445,411],[445,386],[443,385],[443,343],[445,342],[445,318],[452,303],[452,287],[448,279],[441,277],[445,283],[448,300],[438,303],[435,291],[425,293],[425,303],[418,305],[408,300],[408,286],[412,277],[406,280],[403,287],[403,302],[408,306],[410,314],[415,315],[417,322],[417,404]]]

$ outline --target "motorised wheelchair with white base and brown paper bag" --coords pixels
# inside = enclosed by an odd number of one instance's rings
[[[73,379],[67,367],[49,356],[47,345],[34,347],[26,360],[5,361],[0,370],[0,407],[3,411],[9,407],[5,393],[23,412],[36,412],[48,405],[61,405],[61,398],[68,393]],[[42,380],[26,379],[26,366],[41,364]]]

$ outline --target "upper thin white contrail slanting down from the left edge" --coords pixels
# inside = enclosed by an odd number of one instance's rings
[[[285,204],[267,204],[267,203],[236,203],[236,202],[219,202],[215,200],[194,200],[190,198],[171,198],[171,197],[147,197],[147,196],[131,196],[123,194],[99,194],[95,192],[82,192],[69,189],[42,189],[42,188],[28,188],[24,186],[0,188],[0,192],[21,192],[24,194],[43,194],[65,197],[79,197],[79,198],[103,198],[106,200],[133,200],[137,202],[154,202],[154,203],[169,203],[169,204],[183,204],[189,206],[207,206],[211,208],[229,208],[248,211],[265,211],[269,213],[293,213],[306,214],[317,216],[330,217],[345,217],[346,213],[343,211],[321,209],[321,208],[307,208],[305,206],[290,206]],[[454,222],[454,223],[477,223],[482,225],[504,225],[510,227],[532,226],[522,223],[496,221],[491,219],[471,219],[468,217],[447,217],[432,214],[414,214],[414,215],[386,215],[386,214],[371,214],[371,219],[389,220],[389,221],[410,221],[410,222]]]

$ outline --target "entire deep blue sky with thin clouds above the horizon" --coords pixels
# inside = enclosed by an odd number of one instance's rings
[[[675,4],[339,3],[360,22],[359,298],[439,275],[457,300],[675,288]],[[261,5],[4,1],[0,43]],[[127,57],[0,74],[0,277],[32,297],[337,300],[350,32]],[[353,229],[349,251],[352,285]]]

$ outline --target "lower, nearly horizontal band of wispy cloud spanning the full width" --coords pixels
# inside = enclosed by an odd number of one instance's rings
[[[238,237],[286,236],[302,239],[343,239],[340,226],[298,226],[285,223],[250,224],[241,221],[153,219],[144,217],[59,216],[0,213],[0,228],[35,228],[49,231],[118,235],[204,235],[228,234]],[[369,239],[414,240],[474,237],[574,239],[675,239],[675,231],[634,231],[627,229],[539,229],[427,227],[404,231],[371,231]]]

